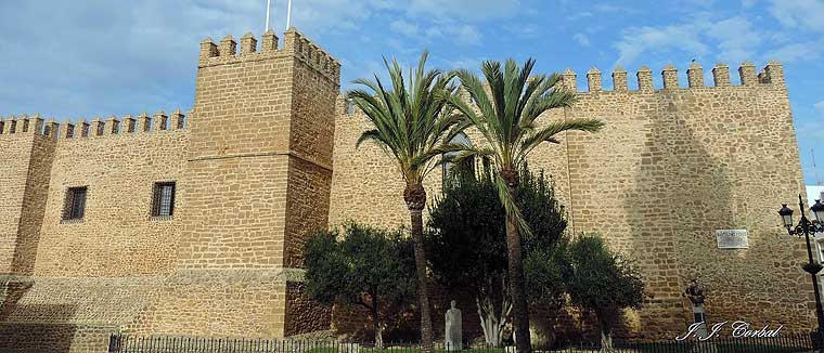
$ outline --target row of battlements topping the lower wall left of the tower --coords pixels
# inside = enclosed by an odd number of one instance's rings
[[[192,116],[192,112],[189,112]],[[143,113],[138,118],[127,115],[121,118],[110,116],[108,118],[95,117],[92,121],[80,118],[77,121],[65,119],[57,122],[56,119],[43,119],[39,114],[31,117],[27,115],[0,118],[0,139],[11,135],[36,134],[54,139],[93,139],[102,136],[128,136],[142,133],[164,132],[171,130],[184,130],[189,118],[180,109],[171,115],[159,110],[152,117]]]

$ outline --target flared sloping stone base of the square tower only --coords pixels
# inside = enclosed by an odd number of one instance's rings
[[[331,310],[295,270],[177,271],[124,331],[137,336],[282,338],[327,330]]]

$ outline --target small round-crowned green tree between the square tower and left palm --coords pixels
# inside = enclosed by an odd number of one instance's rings
[[[414,299],[415,263],[412,243],[400,231],[348,223],[318,232],[304,248],[306,290],[314,300],[362,306],[372,314],[375,343],[389,314]]]

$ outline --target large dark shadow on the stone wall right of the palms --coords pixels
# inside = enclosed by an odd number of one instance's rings
[[[683,100],[678,95],[648,100],[657,101],[652,102],[657,112],[638,112],[646,118],[636,132],[644,148],[623,204],[629,212],[623,249],[639,265],[648,297],[639,327],[625,329],[629,336],[671,339],[692,324],[692,306],[681,293],[687,277],[705,272],[694,266],[711,261],[706,258],[716,248],[711,230],[734,225],[733,200],[729,161],[713,159],[696,131],[712,126],[685,116],[701,112],[682,110],[672,103]],[[704,254],[705,261],[684,263],[684,251]]]

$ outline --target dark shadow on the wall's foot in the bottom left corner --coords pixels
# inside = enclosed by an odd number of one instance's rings
[[[77,329],[67,324],[74,317],[74,305],[25,305],[17,301],[31,288],[30,279],[5,285],[0,309],[0,351],[26,353],[63,353],[72,350]],[[15,321],[25,317],[50,317],[55,324]]]

